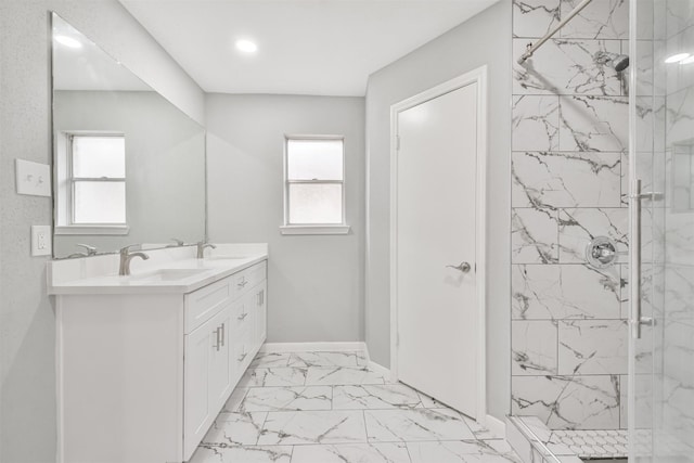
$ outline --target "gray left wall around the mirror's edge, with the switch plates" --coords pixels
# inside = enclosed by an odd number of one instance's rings
[[[116,0],[0,2],[0,461],[55,461],[55,323],[47,258],[29,257],[29,227],[51,200],[15,194],[16,157],[49,163],[49,10],[203,120],[202,90]]]

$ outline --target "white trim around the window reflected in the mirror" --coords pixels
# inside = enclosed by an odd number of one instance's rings
[[[128,223],[73,223],[73,153],[72,137],[124,137],[124,132],[106,130],[66,130],[56,137],[55,178],[55,227],[57,235],[127,235],[130,233]],[[85,180],[85,179],[80,179]],[[97,179],[99,180],[99,179]],[[123,181],[125,182],[125,178]],[[127,220],[127,219],[126,219]]]

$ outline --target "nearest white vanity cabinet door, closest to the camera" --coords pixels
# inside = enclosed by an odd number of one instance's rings
[[[184,337],[183,452],[190,456],[214,420],[208,372],[216,335],[208,322]]]

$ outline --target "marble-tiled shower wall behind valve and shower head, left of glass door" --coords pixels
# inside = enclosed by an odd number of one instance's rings
[[[513,0],[512,413],[549,427],[626,427],[628,0],[593,0],[526,64],[515,60],[579,0]]]

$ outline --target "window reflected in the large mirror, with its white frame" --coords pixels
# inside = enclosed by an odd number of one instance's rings
[[[64,133],[63,140],[56,232],[127,233],[125,137]]]

